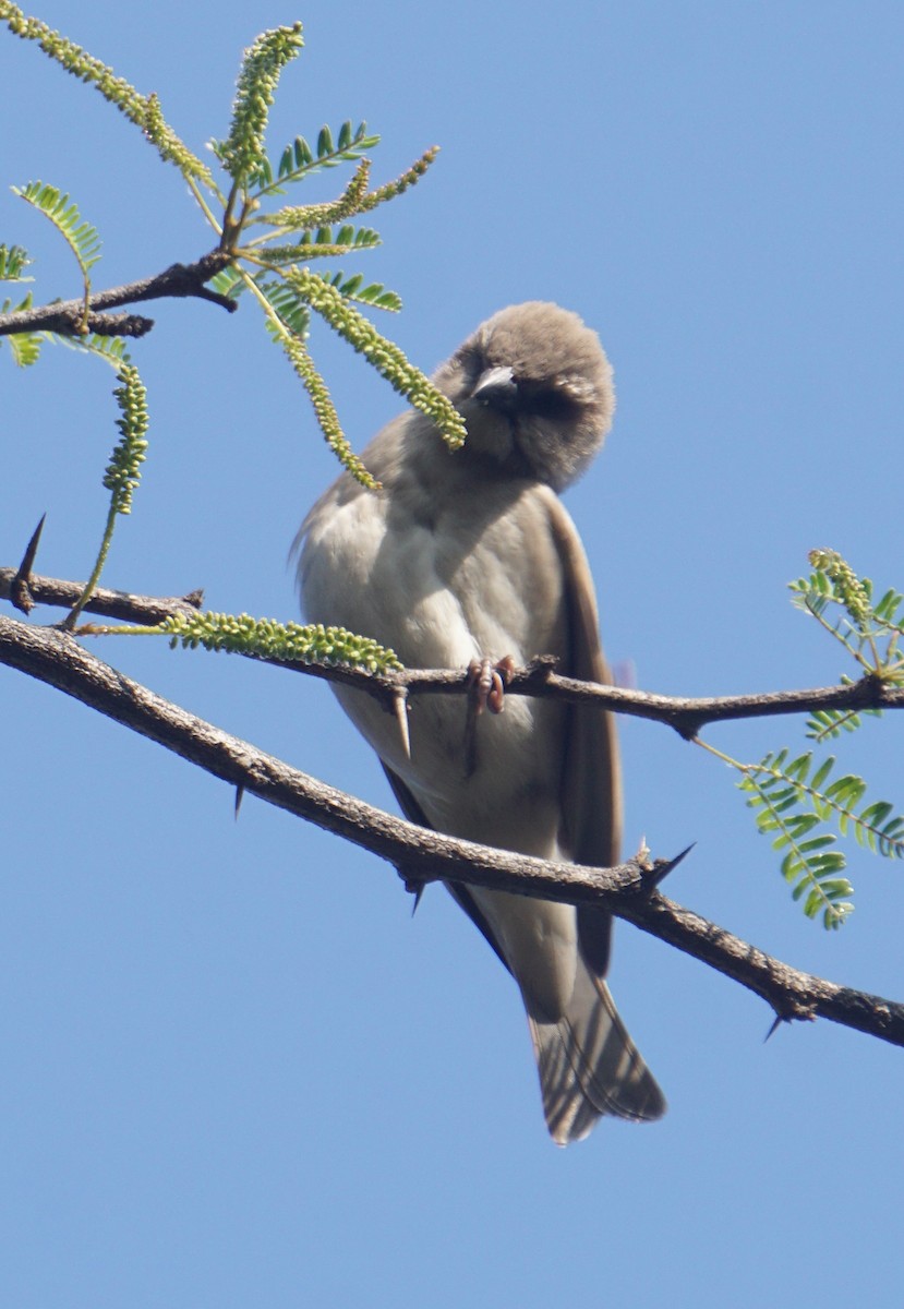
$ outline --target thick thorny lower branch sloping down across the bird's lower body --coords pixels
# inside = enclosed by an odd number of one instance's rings
[[[379,855],[406,880],[446,878],[606,907],[754,991],[781,1020],[824,1017],[904,1046],[903,1004],[799,973],[661,895],[655,885],[674,864],[649,864],[640,856],[611,869],[552,864],[416,827],[164,700],[55,628],[0,618],[0,664],[65,691],[213,776]]]

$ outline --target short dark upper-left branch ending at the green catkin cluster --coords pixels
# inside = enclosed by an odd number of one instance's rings
[[[195,263],[174,263],[153,278],[130,281],[110,291],[98,291],[88,302],[88,330],[106,336],[143,336],[153,327],[153,318],[137,314],[106,314],[107,309],[133,305],[143,300],[164,300],[191,296],[221,305],[229,313],[238,308],[229,296],[211,291],[205,283],[225,268],[232,257],[224,250],[212,250]],[[58,300],[52,305],[22,309],[0,314],[0,336],[25,331],[55,331],[63,336],[81,335],[85,322],[85,301]]]

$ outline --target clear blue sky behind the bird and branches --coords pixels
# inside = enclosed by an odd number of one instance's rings
[[[568,496],[603,635],[640,686],[727,692],[845,670],[789,605],[806,551],[904,586],[904,8],[810,0],[424,5],[220,0],[41,16],[160,93],[200,149],[238,55],[305,22],[275,147],[366,118],[378,179],[442,154],[375,216],[358,267],[425,368],[491,312],[552,298],[598,329],[619,412]],[[98,285],[200,255],[174,170],[99,97],[0,35],[3,174],[78,199]],[[339,174],[322,198],[340,185]],[[0,192],[38,298],[75,295],[54,234]],[[135,357],[153,420],[110,585],[292,618],[285,554],[334,476],[243,305],[161,304]],[[398,398],[314,340],[360,446]],[[105,512],[111,376],[3,352],[0,563],[47,511],[41,571],[82,577]],[[52,614],[35,613],[35,620]],[[161,694],[391,806],[327,687],[110,641]],[[901,1051],[771,1012],[629,927],[612,990],[670,1100],[662,1123],[547,1139],[514,987],[440,890],[233,797],[160,747],[0,673],[0,1301],[16,1309],[900,1304]],[[904,996],[901,868],[850,853],[857,912],[790,903],[731,775],[623,728],[627,831],[697,842],[670,893],[797,966]],[[756,758],[802,724],[723,726]],[[845,746],[904,802],[901,729]]]

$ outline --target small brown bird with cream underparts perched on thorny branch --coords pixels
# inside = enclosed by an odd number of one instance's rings
[[[538,656],[611,682],[590,568],[559,492],[610,429],[612,369],[576,313],[527,301],[481,323],[432,381],[464,420],[463,448],[451,452],[415,410],[391,420],[362,453],[381,490],[344,473],[301,525],[302,607],[309,622],[374,637],[409,668],[471,668],[483,687],[470,708],[461,696],[417,696],[406,734],[375,699],[334,686],[411,822],[612,867],[612,716],[502,695],[505,668]],[[666,1101],[606,982],[611,915],[446,885],[521,990],[553,1141],[581,1140],[604,1114],[659,1118]]]

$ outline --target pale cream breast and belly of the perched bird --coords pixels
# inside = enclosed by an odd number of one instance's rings
[[[327,496],[309,518],[301,576],[311,620],[391,645],[408,668],[464,669],[475,658],[565,653],[561,564],[544,501],[525,483],[440,500],[429,520],[406,493]],[[491,488],[492,491],[492,488]],[[468,726],[466,696],[419,695],[411,758],[375,700],[343,707],[438,830],[522,852],[556,850],[563,715],[509,695]],[[468,732],[471,740],[468,742]]]

